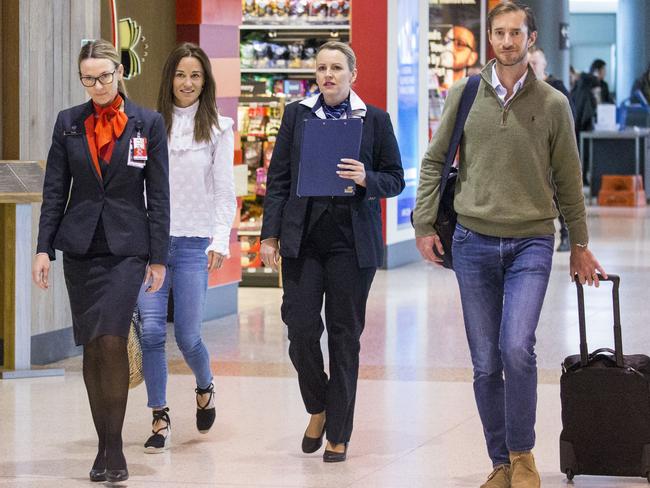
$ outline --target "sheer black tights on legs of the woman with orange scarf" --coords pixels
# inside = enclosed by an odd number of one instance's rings
[[[129,393],[126,338],[103,335],[84,346],[83,375],[99,439],[93,469],[126,469],[122,425]]]

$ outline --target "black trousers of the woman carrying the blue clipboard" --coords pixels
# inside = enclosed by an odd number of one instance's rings
[[[336,444],[348,442],[352,434],[359,338],[375,271],[359,268],[352,243],[330,212],[318,219],[297,258],[282,259],[282,320],[289,330],[289,356],[307,412],[326,412],[327,439]],[[329,379],[320,348],[323,298]]]

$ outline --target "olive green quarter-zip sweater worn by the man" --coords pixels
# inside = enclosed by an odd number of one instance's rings
[[[492,87],[492,65],[481,72],[460,144],[454,208],[458,222],[495,237],[555,233],[557,194],[572,243],[588,240],[581,164],[566,97],[532,69],[503,106]],[[440,177],[467,79],[449,90],[440,127],[422,160],[413,214],[417,236],[435,234]]]

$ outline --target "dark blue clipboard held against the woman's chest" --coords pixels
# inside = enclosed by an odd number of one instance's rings
[[[299,197],[354,196],[355,183],[336,174],[341,158],[359,159],[363,120],[307,119],[302,132]]]

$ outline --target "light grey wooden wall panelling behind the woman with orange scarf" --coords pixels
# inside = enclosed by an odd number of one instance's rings
[[[20,154],[16,159],[41,160],[47,158],[58,112],[87,100],[79,83],[77,56],[82,39],[99,37],[100,2],[18,0],[18,3],[18,85],[25,96],[20,97]],[[34,205],[33,249],[39,215],[40,205]],[[43,292],[32,288],[32,334],[71,325],[61,259],[57,259],[52,263],[50,289]]]

